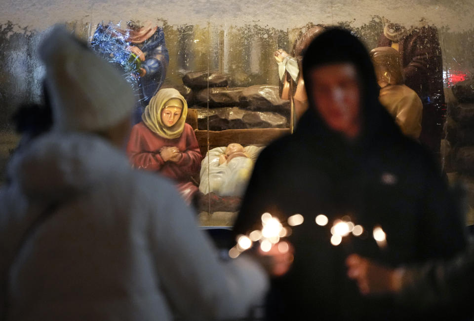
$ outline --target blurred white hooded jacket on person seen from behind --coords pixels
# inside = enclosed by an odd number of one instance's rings
[[[192,320],[235,318],[268,286],[248,258],[219,262],[174,187],[130,169],[96,136],[44,135],[17,152],[8,176],[0,190],[8,320],[170,320],[171,309]]]

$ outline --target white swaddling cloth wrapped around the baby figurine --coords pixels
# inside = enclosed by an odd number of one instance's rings
[[[249,157],[234,157],[222,165],[219,165],[219,157],[226,153],[227,147],[209,150],[201,163],[201,193],[214,192],[219,196],[241,197],[252,174],[253,165],[263,148],[264,146],[246,146],[244,150]]]

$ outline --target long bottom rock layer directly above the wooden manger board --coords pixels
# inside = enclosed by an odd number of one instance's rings
[[[202,111],[201,111],[202,110]],[[198,109],[197,127],[207,129],[209,117],[209,130],[220,131],[226,129],[246,128],[286,128],[286,117],[271,111],[250,111],[238,107],[223,107],[214,109]]]

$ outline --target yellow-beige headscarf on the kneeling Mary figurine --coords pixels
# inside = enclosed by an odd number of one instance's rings
[[[181,111],[181,117],[178,119],[176,124],[171,127],[167,127],[161,121],[161,111],[166,107],[170,99],[177,98],[183,102],[183,110]],[[186,116],[188,115],[188,103],[186,99],[174,88],[165,88],[160,89],[158,93],[153,96],[150,100],[150,103],[145,108],[145,111],[142,115],[142,120],[147,125],[147,127],[157,135],[173,139],[181,136],[181,133],[184,130],[184,124],[186,122]]]

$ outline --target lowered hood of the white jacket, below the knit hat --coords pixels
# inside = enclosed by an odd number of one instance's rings
[[[54,201],[124,171],[126,156],[100,137],[49,133],[15,153],[7,177],[27,198]]]

